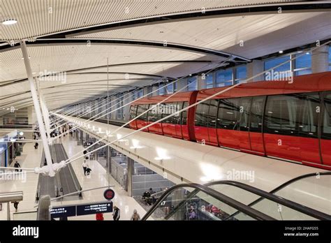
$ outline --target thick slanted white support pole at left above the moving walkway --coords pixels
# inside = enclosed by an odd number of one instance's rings
[[[39,131],[41,132],[41,141],[43,142],[46,162],[47,162],[47,166],[48,166],[48,170],[49,170],[48,175],[50,175],[50,177],[54,177],[55,173],[54,173],[54,170],[52,167],[52,156],[50,156],[50,147],[48,146],[48,143],[47,143],[45,126],[43,124],[43,116],[41,115],[41,107],[39,105],[36,86],[34,84],[34,77],[32,76],[29,55],[27,53],[27,45],[25,44],[24,40],[21,40],[20,44],[21,44],[21,50],[22,50],[22,54],[23,54],[23,58],[24,58],[25,69],[27,70],[27,76],[28,76],[28,80],[29,80],[29,84],[30,84],[32,100],[34,101],[34,108],[36,109],[36,116],[37,116]]]

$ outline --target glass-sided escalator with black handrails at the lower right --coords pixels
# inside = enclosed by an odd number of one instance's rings
[[[331,172],[318,173],[320,180],[303,191],[314,177],[291,179],[270,192],[234,181],[178,184],[165,191],[142,220],[331,220]],[[312,191],[320,195],[311,196]],[[300,192],[320,200],[314,205],[298,196]]]

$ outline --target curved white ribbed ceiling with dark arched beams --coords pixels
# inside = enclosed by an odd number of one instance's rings
[[[17,24],[1,24],[0,115],[32,104],[21,39],[28,39],[34,77],[52,110],[108,88],[114,94],[209,70],[231,55],[249,61],[330,38],[330,4],[296,2],[2,0],[1,19]],[[42,78],[50,72],[65,82]]]

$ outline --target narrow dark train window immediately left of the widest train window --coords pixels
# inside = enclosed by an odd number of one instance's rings
[[[251,101],[251,112],[249,117],[250,132],[256,132],[256,133],[262,132],[264,102],[265,102],[265,97],[263,96],[253,97]]]

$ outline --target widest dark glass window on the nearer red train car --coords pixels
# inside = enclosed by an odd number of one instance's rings
[[[267,133],[297,135],[300,98],[295,95],[268,96],[265,108]]]

